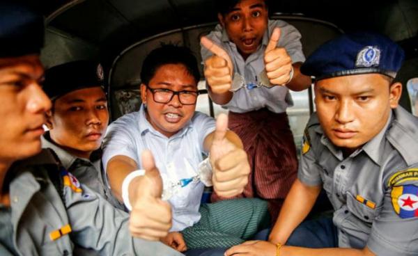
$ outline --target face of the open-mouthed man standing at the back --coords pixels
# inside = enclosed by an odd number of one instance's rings
[[[268,26],[264,0],[242,0],[230,13],[219,14],[218,18],[244,58],[257,50]]]

